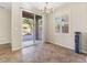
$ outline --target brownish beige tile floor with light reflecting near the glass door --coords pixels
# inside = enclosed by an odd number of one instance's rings
[[[0,46],[1,63],[84,63],[87,55],[45,43],[11,52],[10,45]]]

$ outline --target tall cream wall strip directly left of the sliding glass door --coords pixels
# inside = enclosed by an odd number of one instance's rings
[[[11,9],[11,44],[12,51],[21,48],[21,23],[22,23],[22,11],[20,3],[12,3]]]

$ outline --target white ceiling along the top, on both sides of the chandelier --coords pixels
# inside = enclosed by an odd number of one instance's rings
[[[22,2],[25,6],[30,6],[34,9],[43,9],[45,2]],[[53,7],[54,9],[56,9],[57,7],[64,4],[64,2],[50,2],[50,6]],[[0,9],[7,9],[10,10],[11,9],[11,2],[0,2]]]

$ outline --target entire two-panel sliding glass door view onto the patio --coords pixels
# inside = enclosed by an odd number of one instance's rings
[[[42,43],[42,17],[22,11],[22,47]]]

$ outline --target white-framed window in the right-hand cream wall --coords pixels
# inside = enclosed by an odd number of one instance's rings
[[[62,15],[55,18],[55,32],[57,33],[68,33],[68,15]]]

